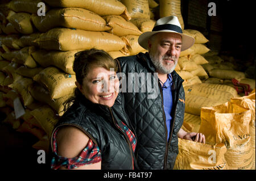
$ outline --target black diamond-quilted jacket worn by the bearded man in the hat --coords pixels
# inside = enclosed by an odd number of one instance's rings
[[[152,65],[148,53],[139,53],[136,56],[119,57],[116,59],[119,69],[129,77],[129,73],[154,73],[155,68]],[[158,79],[155,79],[157,86],[154,86],[155,92],[158,92],[155,99],[148,99],[151,93],[133,92],[133,84],[126,81],[122,83],[122,88],[126,87],[125,110],[129,115],[131,124],[137,134],[137,149],[135,155],[140,169],[173,169],[178,154],[179,132],[184,119],[185,95],[182,86],[183,79],[174,71],[171,73],[174,81],[172,87],[172,122],[170,139],[167,141],[166,117],[163,109],[163,94]],[[150,78],[150,77],[147,77]],[[141,80],[141,79],[140,79]],[[151,74],[151,85],[154,85],[153,74]],[[144,82],[139,81],[139,90]],[[138,84],[137,84],[138,85]],[[152,86],[153,87],[153,86]],[[147,87],[148,88],[148,87]],[[143,90],[143,89],[142,89]],[[152,94],[151,94],[152,95]]]

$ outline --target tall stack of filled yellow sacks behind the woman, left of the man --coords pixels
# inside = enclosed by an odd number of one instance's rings
[[[74,94],[75,53],[97,48],[116,58],[144,49],[137,43],[142,31],[119,1],[44,1],[46,14],[38,16],[40,2],[13,0],[0,8],[0,105],[5,123],[34,134],[40,141],[33,147],[47,151],[63,103]],[[14,111],[17,98],[22,116]]]

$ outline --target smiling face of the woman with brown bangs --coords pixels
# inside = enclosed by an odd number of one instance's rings
[[[76,82],[76,86],[86,99],[109,107],[113,106],[119,91],[117,74],[105,68],[91,69],[82,85]]]

